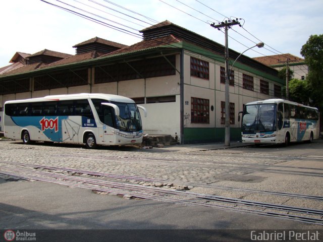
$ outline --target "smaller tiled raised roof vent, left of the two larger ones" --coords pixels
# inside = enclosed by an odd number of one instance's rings
[[[28,55],[27,65],[34,64],[34,63],[49,64],[49,63],[60,61],[61,59],[64,59],[70,56],[71,54],[44,49],[37,53]]]

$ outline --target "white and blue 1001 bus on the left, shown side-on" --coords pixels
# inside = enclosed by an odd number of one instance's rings
[[[5,102],[4,133],[10,139],[97,145],[141,144],[136,103],[110,94],[51,95]]]

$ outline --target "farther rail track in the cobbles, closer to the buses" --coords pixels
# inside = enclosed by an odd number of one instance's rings
[[[184,185],[184,184],[187,185],[187,183],[183,183],[183,181],[177,181],[177,180],[169,181],[169,180],[140,177],[140,176],[130,176],[130,175],[112,174],[112,173],[105,173],[105,172],[98,172],[98,171],[72,169],[72,168],[67,168],[67,167],[57,167],[57,166],[48,166],[48,165],[39,165],[39,164],[27,164],[27,163],[22,163],[22,162],[11,162],[11,161],[1,161],[0,163],[20,165],[20,166],[25,166],[25,167],[32,167],[32,168],[36,168],[36,169],[42,168],[42,169],[48,169],[48,170],[60,170],[60,171],[67,171],[67,172],[75,172],[75,173],[79,173],[79,174],[104,176],[104,177],[116,178],[116,179],[146,181],[148,183],[163,183],[164,184],[164,183],[172,182],[172,183],[179,184],[179,185]],[[255,190],[255,189],[246,189],[246,188],[235,188],[235,187],[228,187],[228,186],[224,187],[224,186],[207,185],[207,184],[200,184],[200,183],[189,183],[189,185],[194,186],[194,187],[203,187],[203,188],[221,189],[221,190],[234,190],[234,191],[260,193],[260,194],[270,194],[270,195],[294,197],[294,198],[309,199],[309,200],[316,200],[316,201],[323,202],[323,197],[321,197],[321,196],[295,194],[295,193],[282,193],[282,192],[275,192],[275,191]]]

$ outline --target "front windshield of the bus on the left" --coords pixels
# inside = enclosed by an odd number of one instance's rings
[[[138,107],[134,103],[113,102],[120,109],[117,116],[117,128],[120,131],[134,132],[142,129],[142,123]]]

